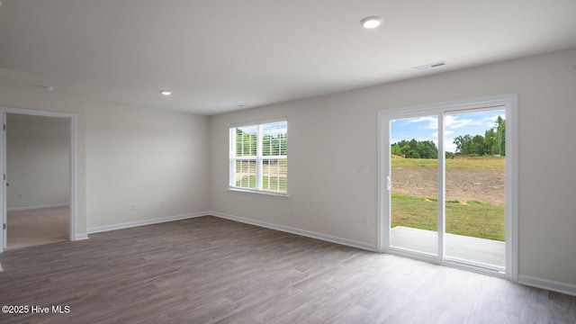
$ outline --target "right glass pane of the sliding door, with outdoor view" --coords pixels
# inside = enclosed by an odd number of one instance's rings
[[[446,257],[506,266],[505,118],[446,115]]]

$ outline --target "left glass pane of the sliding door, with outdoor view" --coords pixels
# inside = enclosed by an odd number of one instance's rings
[[[438,253],[438,116],[391,121],[391,246]],[[436,134],[436,135],[435,135]]]

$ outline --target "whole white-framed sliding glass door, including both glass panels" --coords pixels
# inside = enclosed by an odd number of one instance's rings
[[[384,251],[509,274],[512,103],[381,112]]]

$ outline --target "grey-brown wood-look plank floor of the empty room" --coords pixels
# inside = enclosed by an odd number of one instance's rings
[[[1,323],[574,323],[576,297],[215,217],[0,255]]]

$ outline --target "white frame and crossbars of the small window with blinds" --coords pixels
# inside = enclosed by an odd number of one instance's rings
[[[288,172],[286,171],[286,192],[275,191],[263,189],[263,179],[264,179],[264,165],[263,161],[265,159],[285,159],[286,164],[288,161],[288,154],[278,155],[278,156],[263,156],[263,138],[264,138],[264,128],[267,124],[285,122],[286,123],[286,135],[288,134],[288,120],[287,119],[276,119],[272,121],[259,121],[254,123],[236,124],[231,125],[229,128],[229,190],[236,192],[245,193],[259,193],[266,195],[274,195],[280,197],[288,197]],[[247,156],[247,157],[237,157],[236,156],[236,129],[240,127],[256,127],[257,128],[257,155]],[[236,163],[238,160],[256,160],[256,188],[246,188],[238,187],[236,185]],[[287,166],[286,166],[287,167]]]

